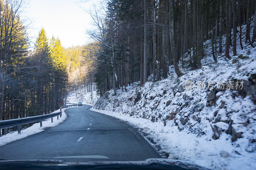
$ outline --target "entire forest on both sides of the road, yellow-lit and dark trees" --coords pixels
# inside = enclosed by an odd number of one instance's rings
[[[253,47],[256,38],[255,23],[252,37],[249,33],[255,0],[104,2],[89,11],[91,42],[64,48],[58,37],[47,38],[43,26],[31,44],[20,19],[23,2],[0,0],[1,120],[51,113],[66,103],[69,92],[83,94],[96,86],[100,96],[110,89],[116,94],[133,82],[143,86],[167,78],[170,68],[180,77],[202,67],[204,41],[211,40],[217,62],[230,60],[231,51],[236,55],[238,43]]]

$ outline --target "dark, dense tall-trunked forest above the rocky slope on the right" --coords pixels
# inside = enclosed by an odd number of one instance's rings
[[[124,91],[133,82],[142,86],[167,78],[169,67],[177,77],[201,68],[206,40],[211,40],[217,62],[220,57],[230,60],[231,51],[236,55],[237,43],[243,49],[256,38],[256,24],[252,37],[249,34],[255,0],[109,0],[102,8],[90,11],[95,29],[88,34],[96,46],[86,56],[95,64],[100,96],[110,89],[115,94],[116,89]],[[188,64],[184,56],[189,56]]]

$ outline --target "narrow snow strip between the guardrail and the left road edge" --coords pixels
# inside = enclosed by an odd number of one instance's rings
[[[19,135],[18,135],[17,131],[14,131],[14,132],[8,133],[8,134],[0,137],[0,146],[3,146],[5,144],[11,143],[13,141],[16,141],[16,140],[19,140],[19,139],[22,139],[22,138],[25,138],[25,137],[28,137],[30,135],[34,135],[36,133],[44,131],[45,129],[49,129],[51,127],[59,125],[61,122],[66,120],[66,118],[68,117],[68,115],[65,112],[65,109],[66,108],[62,109],[62,116],[61,117],[59,116],[59,120],[57,120],[57,116],[53,117],[53,123],[52,123],[51,118],[49,118],[49,119],[46,119],[42,122],[43,127],[40,127],[40,123],[35,123],[35,124],[33,124],[32,126],[26,128],[26,129],[22,129],[20,131]],[[60,110],[58,109],[58,110],[56,110],[52,113],[56,113],[56,112],[59,112],[59,111]]]

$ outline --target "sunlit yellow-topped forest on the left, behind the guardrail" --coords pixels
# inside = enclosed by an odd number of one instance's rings
[[[91,89],[88,64],[82,66],[84,47],[64,48],[58,37],[48,39],[43,27],[31,44],[20,19],[23,6],[0,0],[0,120],[49,114],[65,105],[69,90]],[[15,127],[0,135],[10,130]]]

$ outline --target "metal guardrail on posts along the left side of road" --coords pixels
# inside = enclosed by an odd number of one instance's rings
[[[23,118],[18,118],[18,119],[10,119],[10,120],[4,120],[0,121],[0,129],[4,128],[10,128],[14,126],[18,126],[18,134],[20,134],[20,125],[23,124],[28,124],[28,123],[33,123],[33,122],[40,122],[40,127],[43,126],[42,121],[48,118],[52,118],[53,122],[53,117],[57,116],[57,120],[62,116],[62,109],[67,108],[67,107],[72,107],[72,106],[77,106],[76,103],[70,103],[70,105],[64,105],[60,107],[60,112],[57,113],[50,113],[46,115],[39,115],[39,116],[31,116],[31,117],[23,117]]]

